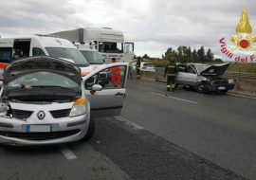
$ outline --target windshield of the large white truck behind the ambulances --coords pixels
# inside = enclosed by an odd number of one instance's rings
[[[117,42],[99,43],[99,51],[105,53],[123,53],[123,44]]]

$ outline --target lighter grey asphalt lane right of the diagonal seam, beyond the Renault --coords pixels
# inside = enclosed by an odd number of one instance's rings
[[[217,165],[256,179],[256,99],[131,81],[122,117]]]

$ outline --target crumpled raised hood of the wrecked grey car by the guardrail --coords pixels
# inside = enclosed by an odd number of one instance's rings
[[[201,71],[200,75],[219,77],[225,73],[228,67],[229,67],[229,63],[220,63],[220,64],[210,65],[209,67]]]

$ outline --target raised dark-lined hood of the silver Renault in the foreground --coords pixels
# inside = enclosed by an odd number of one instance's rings
[[[9,63],[4,73],[4,85],[20,76],[39,71],[54,72],[81,84],[79,67],[61,59],[42,56]]]

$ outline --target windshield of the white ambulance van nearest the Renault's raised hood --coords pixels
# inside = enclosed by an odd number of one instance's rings
[[[46,51],[49,56],[54,58],[70,59],[79,66],[89,65],[86,59],[82,56],[82,53],[76,48],[46,47]]]

